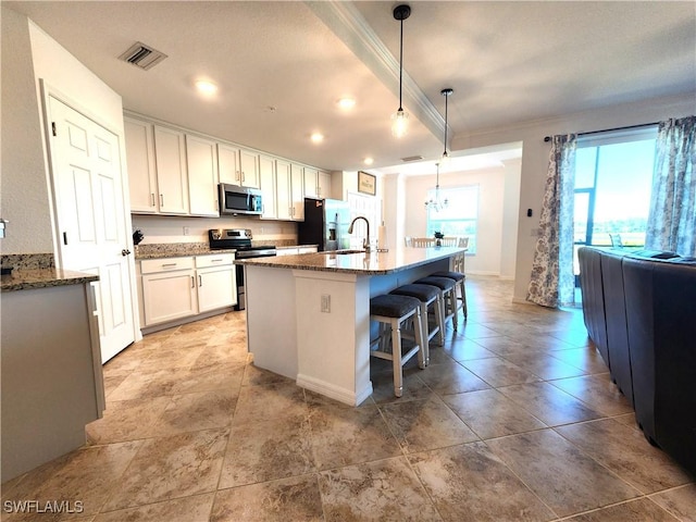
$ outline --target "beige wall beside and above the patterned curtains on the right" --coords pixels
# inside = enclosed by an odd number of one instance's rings
[[[536,236],[533,235],[533,231],[538,228],[540,202],[550,149],[550,144],[545,142],[544,137],[554,134],[583,133],[639,125],[669,117],[691,115],[696,112],[694,99],[695,95],[691,94],[645,100],[561,115],[545,121],[511,125],[476,135],[455,137],[451,144],[453,151],[514,141],[522,141],[523,144],[514,271],[515,300],[525,299],[532,272],[532,261],[536,246]],[[532,217],[526,216],[526,209],[533,209]]]

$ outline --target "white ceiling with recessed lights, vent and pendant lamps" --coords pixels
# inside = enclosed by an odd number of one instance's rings
[[[397,139],[398,2],[2,2],[110,85],[125,109],[331,170],[437,158],[445,87],[455,90],[450,138],[696,92],[695,2],[408,3],[411,126]],[[169,58],[150,71],[119,61],[137,40]],[[219,85],[213,99],[195,92],[198,78]],[[352,111],[338,109],[344,96],[357,100]],[[316,130],[321,145],[309,140]]]

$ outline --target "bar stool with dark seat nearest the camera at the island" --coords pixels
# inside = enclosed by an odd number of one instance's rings
[[[401,338],[410,337],[401,332],[401,325],[408,319],[414,319],[413,338],[415,346],[401,355]],[[418,353],[418,365],[425,368],[425,346],[421,336],[421,301],[414,297],[382,295],[370,299],[370,320],[380,323],[380,334],[370,339],[370,356],[391,361],[394,368],[394,395],[401,397],[403,393],[403,374],[401,368]],[[389,350],[388,338],[391,337]],[[377,349],[372,347],[377,345]]]

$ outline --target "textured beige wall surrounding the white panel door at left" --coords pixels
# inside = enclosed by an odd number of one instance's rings
[[[32,21],[2,8],[1,212],[10,221],[8,237],[0,239],[3,253],[58,253],[41,80],[74,109],[116,134],[125,158],[121,96]]]

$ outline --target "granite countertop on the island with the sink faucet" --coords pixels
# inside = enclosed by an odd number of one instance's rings
[[[397,247],[387,252],[373,250],[370,253],[355,250],[346,250],[345,252],[347,253],[338,253],[340,252],[340,250],[338,250],[338,252],[300,253],[275,258],[235,260],[235,264],[359,275],[384,275],[420,264],[426,264],[439,259],[450,258],[465,250],[467,249],[459,247]]]

